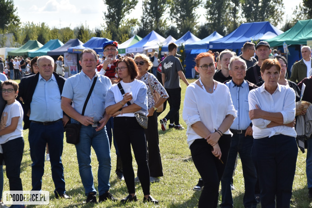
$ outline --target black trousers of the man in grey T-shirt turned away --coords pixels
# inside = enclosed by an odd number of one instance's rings
[[[181,87],[175,89],[165,88],[169,97],[168,103],[170,105],[170,110],[165,116],[165,118],[170,120],[170,123],[174,123],[175,125],[179,125],[179,110],[181,105]]]

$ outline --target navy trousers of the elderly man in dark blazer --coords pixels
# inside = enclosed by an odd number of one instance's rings
[[[62,164],[64,127],[63,122],[44,126],[30,123],[28,141],[32,158],[32,191],[40,191],[44,173],[46,143],[48,143],[54,194],[65,193],[64,167]]]

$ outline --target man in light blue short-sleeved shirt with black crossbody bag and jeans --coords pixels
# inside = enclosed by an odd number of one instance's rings
[[[109,115],[105,113],[106,93],[111,87],[108,77],[97,75],[95,67],[99,62],[97,54],[92,49],[85,49],[80,55],[82,71],[69,77],[64,85],[61,106],[71,118],[73,123],[81,123],[80,142],[76,144],[77,160],[82,184],[85,188],[87,203],[96,203],[96,193],[91,169],[91,146],[93,147],[98,167],[98,191],[99,202],[116,199],[109,192],[110,189],[110,144],[106,133],[105,124]],[[89,93],[92,82],[95,82],[94,89],[85,108],[84,115],[81,115],[85,99]],[[71,105],[72,102],[72,105]],[[88,115],[96,113],[93,118]],[[92,127],[94,121],[98,121],[97,127]]]

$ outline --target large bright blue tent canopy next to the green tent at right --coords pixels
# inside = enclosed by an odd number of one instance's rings
[[[270,22],[248,22],[241,24],[236,30],[215,41],[209,42],[210,49],[240,49],[245,42],[265,40],[282,34]]]

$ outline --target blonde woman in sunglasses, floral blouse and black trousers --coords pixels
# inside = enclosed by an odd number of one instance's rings
[[[163,176],[163,166],[159,150],[158,120],[156,110],[169,96],[165,88],[160,84],[160,82],[158,82],[157,78],[153,74],[147,72],[153,67],[153,63],[149,60],[149,57],[145,54],[137,54],[134,57],[134,62],[139,68],[139,76],[137,79],[143,81],[147,86],[149,109],[149,114],[147,116],[149,117],[149,120],[147,129],[145,129],[145,137],[148,144],[149,178],[150,182],[157,182],[160,180],[159,177]],[[154,100],[152,95],[154,92],[158,92],[160,95],[160,99],[158,101]],[[135,181],[139,181],[139,177],[136,177]]]

